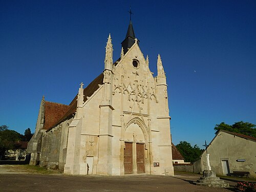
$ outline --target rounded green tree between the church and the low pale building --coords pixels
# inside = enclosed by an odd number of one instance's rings
[[[181,155],[185,158],[185,162],[195,162],[200,158],[200,155],[203,153],[203,150],[199,146],[191,146],[190,143],[186,141],[180,141],[176,145]]]

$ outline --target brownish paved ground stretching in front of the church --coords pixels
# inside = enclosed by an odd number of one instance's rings
[[[175,177],[152,175],[129,176],[67,176],[63,174],[28,174],[11,171],[0,165],[0,191],[233,191],[231,187],[209,188],[192,184],[198,175]],[[10,167],[9,167],[10,168]]]

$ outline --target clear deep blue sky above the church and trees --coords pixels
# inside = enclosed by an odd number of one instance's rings
[[[173,142],[203,148],[221,122],[256,123],[256,1],[0,1],[0,124],[35,130],[42,95],[69,104],[120,56],[133,27],[150,69],[160,53]]]

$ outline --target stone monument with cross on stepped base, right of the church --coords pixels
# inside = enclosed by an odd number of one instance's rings
[[[210,167],[210,160],[209,155],[207,152],[207,144],[205,141],[205,148],[206,148],[206,170],[203,171],[203,177],[200,177],[195,184],[201,186],[208,186],[208,187],[229,187],[229,184],[226,183],[224,180],[221,180],[219,177],[216,177],[216,174]]]

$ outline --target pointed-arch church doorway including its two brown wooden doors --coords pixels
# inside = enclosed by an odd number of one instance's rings
[[[126,125],[124,133],[124,174],[145,173],[145,125],[134,118]]]

